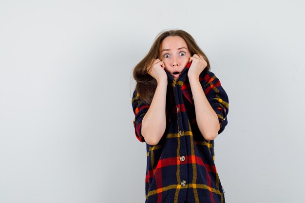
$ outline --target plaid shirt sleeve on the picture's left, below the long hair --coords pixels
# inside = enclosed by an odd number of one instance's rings
[[[140,142],[145,142],[144,137],[142,136],[141,133],[141,126],[142,126],[142,120],[146,112],[148,111],[150,105],[145,104],[139,97],[139,94],[136,92],[136,90],[134,90],[132,106],[134,112],[133,126],[134,126],[135,136]]]

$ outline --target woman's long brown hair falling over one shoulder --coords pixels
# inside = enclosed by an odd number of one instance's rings
[[[159,57],[159,49],[163,39],[169,36],[182,37],[189,48],[191,56],[194,54],[202,55],[208,65],[204,71],[210,70],[210,63],[207,56],[199,48],[193,37],[184,30],[165,30],[157,35],[148,54],[134,67],[133,78],[136,81],[135,89],[139,93],[141,100],[147,104],[152,103],[154,92],[157,88],[157,81],[148,74],[149,68],[152,65],[152,59]]]

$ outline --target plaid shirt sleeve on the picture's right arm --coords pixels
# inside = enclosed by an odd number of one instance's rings
[[[208,71],[205,74],[203,82],[206,97],[218,116],[220,124],[218,134],[220,134],[228,124],[229,98],[221,86],[220,80],[212,72]]]

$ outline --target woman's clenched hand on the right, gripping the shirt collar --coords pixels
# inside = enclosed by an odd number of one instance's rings
[[[190,62],[191,62],[191,67],[188,72],[188,77],[198,79],[199,75],[207,67],[208,63],[207,61],[205,61],[202,55],[197,55],[197,54],[191,56]]]

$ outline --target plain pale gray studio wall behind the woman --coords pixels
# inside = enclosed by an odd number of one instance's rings
[[[0,0],[0,203],[144,203],[133,67],[188,31],[229,95],[215,139],[228,203],[302,202],[298,0]]]

